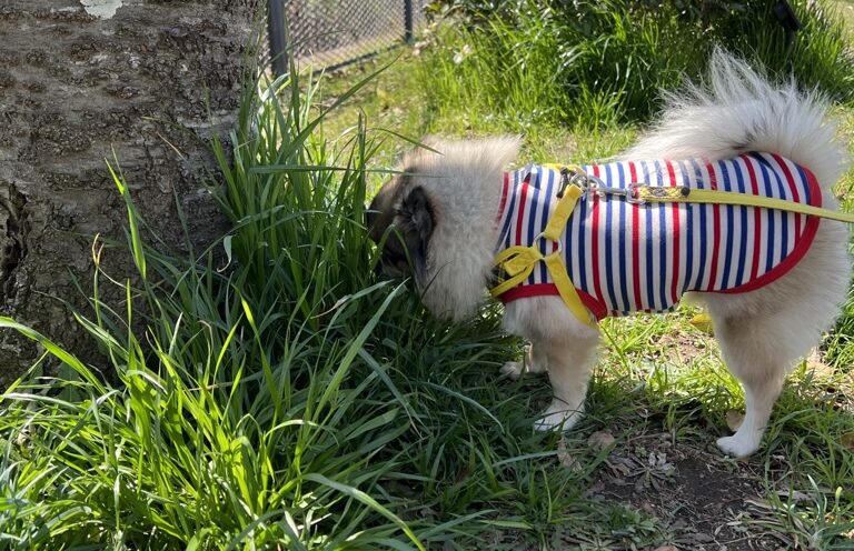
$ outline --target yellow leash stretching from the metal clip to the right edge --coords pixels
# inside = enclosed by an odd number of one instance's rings
[[[701,190],[685,187],[659,188],[654,186],[634,186],[633,200],[637,202],[677,202],[677,203],[716,203],[736,204],[742,207],[762,207],[765,209],[784,210],[798,214],[827,218],[840,222],[854,223],[854,214],[840,212],[812,204],[796,203],[773,197],[757,197],[738,191]]]

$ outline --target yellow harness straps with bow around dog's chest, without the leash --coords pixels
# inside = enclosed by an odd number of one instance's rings
[[[584,190],[578,186],[574,183],[567,186],[564,197],[557,202],[552,217],[548,219],[546,229],[537,238],[548,239],[559,244],[560,234],[566,229],[566,223],[573,213],[575,203],[578,202],[578,198],[583,193]],[[582,323],[595,327],[596,320],[584,305],[580,297],[578,297],[578,291],[576,291],[575,285],[569,280],[562,252],[562,249],[558,248],[557,251],[543,256],[536,244],[530,247],[516,246],[503,250],[495,257],[495,266],[500,268],[509,278],[490,289],[489,292],[493,297],[498,297],[509,291],[525,281],[530,276],[530,272],[534,271],[536,263],[542,260],[546,263],[548,273],[552,274],[552,280],[555,282],[555,287],[557,287],[557,291],[566,308]]]

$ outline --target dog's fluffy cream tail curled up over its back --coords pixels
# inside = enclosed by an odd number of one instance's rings
[[[689,84],[666,100],[658,124],[622,157],[716,160],[766,151],[806,167],[824,189],[845,168],[824,98],[798,91],[794,81],[773,84],[723,50],[712,54],[707,84]]]

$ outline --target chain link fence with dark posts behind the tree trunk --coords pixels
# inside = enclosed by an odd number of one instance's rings
[[[268,0],[269,59],[287,72],[287,53],[301,66],[335,69],[403,41],[424,21],[423,0]]]

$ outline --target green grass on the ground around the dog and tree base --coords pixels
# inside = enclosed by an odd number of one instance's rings
[[[464,62],[484,62],[479,51]],[[319,84],[278,82],[280,102],[247,91],[230,142],[212,146],[234,229],[211,250],[148,247],[117,172],[138,273],[105,273],[100,259],[118,252],[97,243],[92,310],[78,317],[103,360],[82,364],[0,320],[46,349],[0,400],[0,548],[696,549],[679,543],[689,515],[638,504],[687,494],[678,473],[648,461],[666,453],[677,471],[703,461],[715,485],[731,488],[727,474],[755,484],[734,501],[742,509],[715,518],[732,533],[852,549],[854,300],[821,362],[790,378],[749,461],[714,449],[742,397],[691,307],[605,321],[587,417],[566,437],[533,431],[550,390],[497,377],[522,352],[498,308],[451,325],[409,287],[377,282],[364,206],[413,147],[396,134],[524,133],[520,162],[579,161],[618,152],[637,127],[609,107],[598,126],[540,117],[518,87],[543,74],[520,66],[493,92],[515,96],[460,91],[456,107],[437,104],[425,83],[446,53],[405,52],[384,69],[396,56]],[[610,101],[588,99],[579,118]],[[851,134],[854,110],[833,114]],[[848,210],[852,182],[840,186]],[[128,300],[103,303],[103,285]],[[615,444],[589,445],[594,431]],[[638,491],[618,493],[623,482]]]

